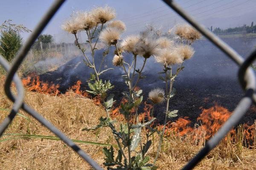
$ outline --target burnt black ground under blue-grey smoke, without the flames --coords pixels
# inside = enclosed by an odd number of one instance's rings
[[[256,39],[249,37],[228,38],[224,41],[243,57],[250,54],[256,45]],[[237,78],[238,67],[231,59],[207,40],[200,40],[192,46],[195,48],[195,55],[184,63],[185,68],[174,83],[177,93],[170,101],[170,110],[179,110],[178,117],[188,116],[194,123],[201,113],[201,107],[210,108],[218,103],[233,111],[244,93]],[[101,57],[101,54],[102,50],[96,52],[96,56]],[[131,56],[125,57],[125,60],[129,60],[129,57]],[[113,51],[106,57],[105,66],[113,67],[112,59]],[[141,64],[142,59],[139,62]],[[158,79],[157,74],[161,69],[153,58],[149,59],[144,72],[146,78],[138,84],[143,89],[144,99],[152,88],[164,88],[165,85]],[[86,80],[90,72],[91,70],[84,65],[83,58],[77,57],[57,70],[42,74],[40,77],[43,81],[59,84],[59,90],[65,92],[77,80],[81,80],[82,88],[86,89]],[[115,68],[102,76],[102,79],[110,79],[115,85],[111,93],[115,94],[116,100],[120,100],[122,98],[120,92],[125,91],[125,83],[120,75],[122,75],[121,69]],[[155,109],[155,116],[159,120],[163,120],[164,107],[163,104]],[[177,118],[173,120],[175,119]],[[253,122],[254,119],[256,114],[250,110],[241,122]]]

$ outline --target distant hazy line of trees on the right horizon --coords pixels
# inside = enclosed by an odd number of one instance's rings
[[[211,28],[208,28],[211,30],[214,34],[223,35],[223,34],[248,34],[248,33],[256,33],[256,26],[254,26],[254,23],[252,22],[250,26],[247,26],[244,24],[240,27],[234,27],[234,28],[227,28],[227,29],[221,29],[219,27],[216,27],[212,30]]]

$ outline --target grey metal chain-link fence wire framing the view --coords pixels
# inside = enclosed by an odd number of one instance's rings
[[[25,45],[21,48],[20,52],[17,54],[15,61],[13,62],[12,66],[8,64],[6,59],[0,56],[0,65],[7,71],[6,82],[4,86],[4,90],[6,96],[14,102],[12,106],[12,110],[10,111],[9,115],[3,120],[0,124],[0,136],[2,136],[3,132],[6,130],[8,125],[12,123],[12,120],[16,116],[18,110],[21,108],[39,122],[41,122],[45,127],[52,131],[56,136],[58,136],[63,142],[65,142],[69,147],[71,147],[76,153],[79,154],[87,163],[89,163],[95,170],[103,170],[99,164],[96,163],[90,156],[87,155],[83,150],[81,150],[72,140],[70,140],[64,133],[58,130],[54,125],[44,119],[39,113],[35,110],[30,108],[26,103],[23,102],[24,99],[24,89],[20,77],[17,75],[17,70],[26,57],[29,49],[32,47],[33,43],[35,42],[36,38],[41,34],[45,26],[49,23],[51,18],[54,16],[56,11],[61,7],[65,0],[55,0],[52,6],[49,8],[47,13],[44,15],[42,20],[38,23],[38,26],[33,31],[32,35],[26,41]],[[174,11],[177,12],[181,17],[183,17],[188,23],[190,23],[194,28],[196,28],[201,34],[204,35],[208,40],[210,40],[215,46],[217,46],[221,51],[223,51],[228,57],[230,57],[237,65],[240,66],[238,78],[241,84],[241,87],[245,91],[244,97],[240,100],[239,104],[233,111],[230,118],[224,123],[224,125],[218,130],[218,132],[213,136],[207,143],[205,144],[204,148],[201,149],[198,154],[192,158],[184,167],[183,170],[190,170],[198,164],[201,159],[206,156],[210,150],[212,150],[220,141],[221,139],[226,136],[226,134],[235,127],[242,116],[246,113],[252,103],[256,103],[256,79],[252,68],[249,66],[253,63],[254,59],[256,58],[256,50],[253,51],[250,56],[244,60],[233,48],[219,39],[217,36],[212,34],[211,31],[201,26],[196,20],[194,20],[189,14],[186,13],[180,6],[177,5],[173,0],[163,0],[169,7],[171,7]],[[14,82],[17,88],[17,95],[13,95],[11,92],[11,82]]]

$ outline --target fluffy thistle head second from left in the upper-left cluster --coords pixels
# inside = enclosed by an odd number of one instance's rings
[[[84,26],[84,30],[89,30],[96,26],[95,19],[91,13],[82,12],[78,14],[78,20],[80,20],[81,24]]]

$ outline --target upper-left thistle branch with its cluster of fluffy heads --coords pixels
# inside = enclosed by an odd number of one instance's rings
[[[90,82],[88,83],[90,91],[87,91],[87,92],[93,95],[100,96],[102,101],[105,100],[107,96],[106,95],[107,91],[113,88],[113,86],[109,81],[103,82],[102,79],[100,79],[101,74],[103,74],[108,70],[113,69],[113,68],[107,68],[105,70],[102,70],[102,65],[105,60],[105,57],[109,53],[109,47],[111,43],[109,43],[109,46],[106,49],[106,51],[102,53],[102,61],[99,67],[96,67],[95,51],[98,50],[96,45],[99,42],[99,39],[104,40],[105,38],[110,38],[110,37],[102,37],[102,34],[105,36],[109,35],[108,29],[110,30],[113,29],[114,32],[116,33],[114,35],[112,34],[114,36],[114,37],[113,36],[111,37],[113,41],[116,41],[117,39],[119,39],[120,34],[122,33],[122,31],[125,30],[125,27],[122,27],[122,28],[117,27],[119,21],[110,22],[115,17],[116,17],[116,13],[113,8],[110,8],[108,6],[98,7],[98,8],[94,8],[91,11],[86,11],[86,12],[79,11],[72,14],[70,20],[67,20],[61,26],[62,29],[74,35],[75,45],[81,50],[82,54],[84,55],[84,63],[89,68],[93,69],[93,74],[91,74]],[[106,26],[106,25],[109,25],[109,26]],[[87,35],[86,44],[89,45],[91,58],[89,58],[85,53],[86,47],[82,46],[81,42],[79,42],[78,40],[77,34],[82,31],[84,31]]]

